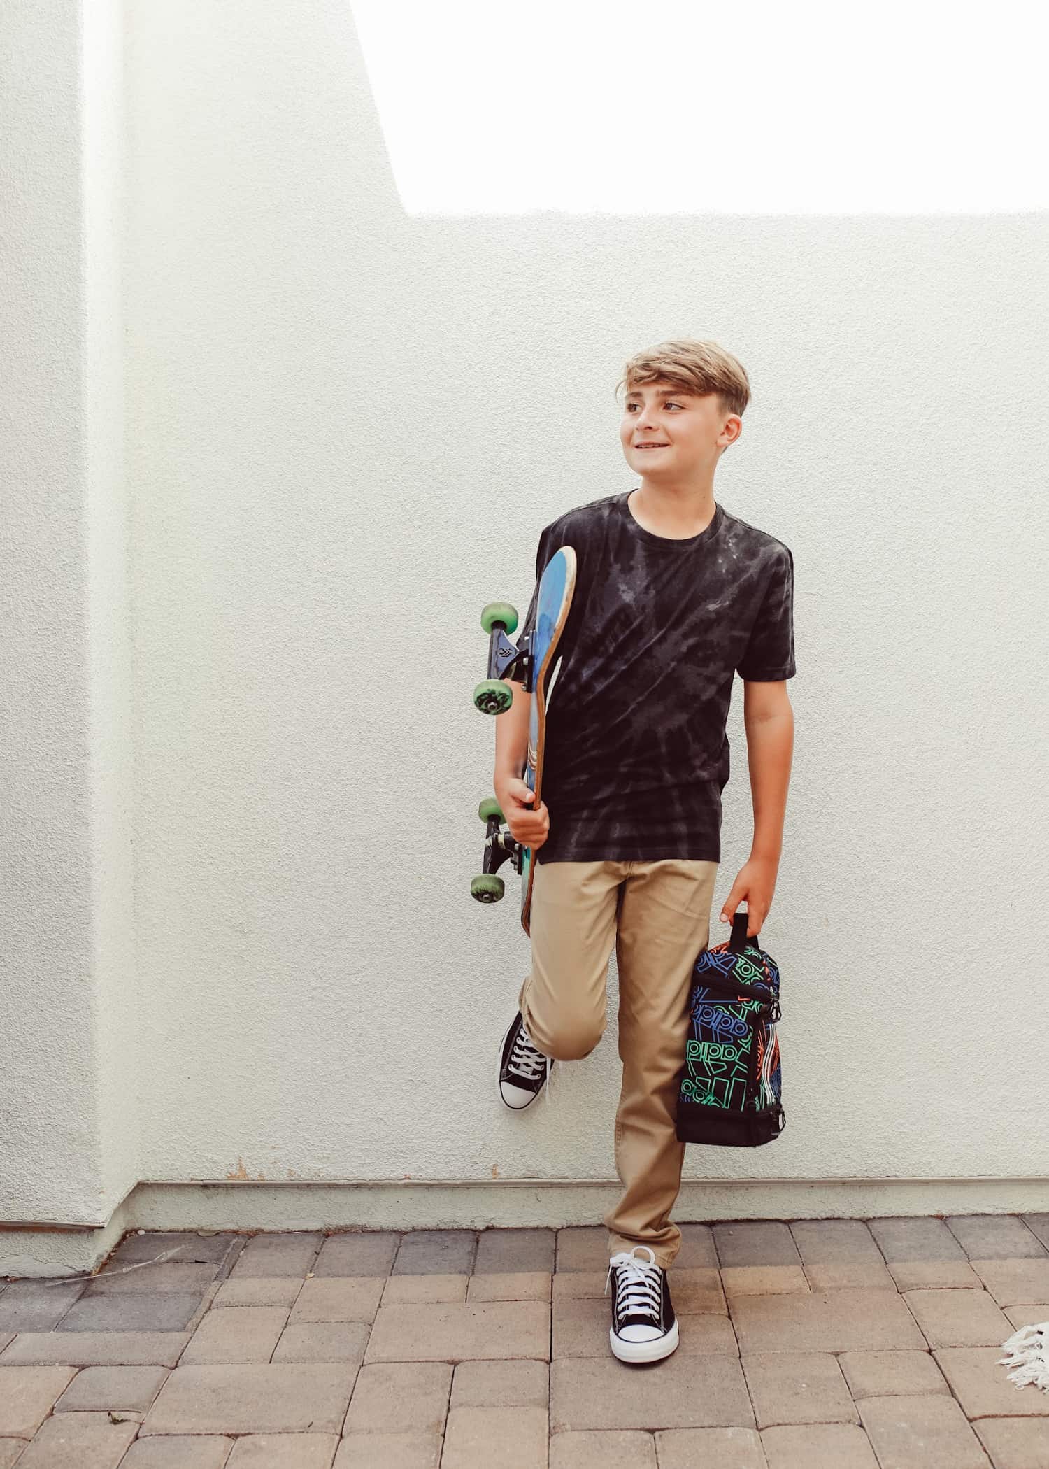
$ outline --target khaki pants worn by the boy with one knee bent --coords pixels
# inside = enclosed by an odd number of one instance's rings
[[[532,971],[517,1005],[544,1055],[576,1061],[601,1040],[616,945],[623,1062],[616,1172],[624,1191],[602,1224],[610,1255],[648,1244],[664,1268],[682,1243],[670,1222],[685,1161],[685,1143],[674,1131],[676,1083],[685,1064],[692,967],[710,939],[717,868],[679,858],[536,862],[532,887]]]

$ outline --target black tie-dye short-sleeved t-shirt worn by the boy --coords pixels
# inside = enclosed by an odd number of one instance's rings
[[[558,546],[577,557],[547,712],[539,862],[720,862],[733,676],[795,674],[787,546],[717,502],[698,536],[657,536],[630,494],[577,505],[539,536],[536,591]],[[519,638],[535,608],[536,592]]]

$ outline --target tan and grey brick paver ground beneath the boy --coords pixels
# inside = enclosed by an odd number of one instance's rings
[[[0,1469],[1048,1469],[1049,1213],[682,1224],[680,1346],[607,1231],[129,1234],[0,1278]]]

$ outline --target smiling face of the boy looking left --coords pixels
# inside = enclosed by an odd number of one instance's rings
[[[742,427],[743,420],[726,413],[715,392],[682,392],[668,382],[649,382],[627,389],[619,432],[630,469],[657,483],[674,483],[713,470]],[[666,447],[638,447],[648,442]]]

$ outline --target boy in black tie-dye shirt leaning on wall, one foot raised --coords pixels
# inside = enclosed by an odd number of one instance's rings
[[[677,1347],[667,1282],[685,1158],[676,1081],[721,859],[732,680],[743,680],[754,842],[720,917],[732,923],[745,902],[757,934],[776,886],[793,749],[793,557],[714,501],[717,463],[751,395],[742,364],[715,342],[668,341],[630,358],[623,383],[620,439],[641,485],[566,511],[539,538],[536,583],[561,545],[576,549],[577,579],[535,811],[522,779],[522,683],[497,718],[495,796],[536,862],[532,971],[502,1040],[500,1094],[527,1106],[554,1059],[594,1050],[614,942],[624,1191],[602,1219],[608,1338],[621,1360],[652,1362]],[[533,595],[522,633],[535,608]]]

